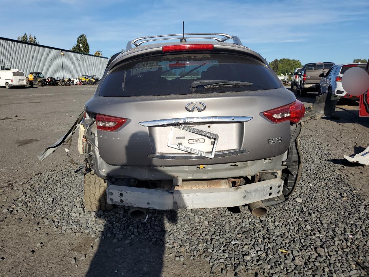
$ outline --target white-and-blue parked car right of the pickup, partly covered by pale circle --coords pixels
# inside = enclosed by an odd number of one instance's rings
[[[332,66],[327,73],[320,73],[319,76],[322,79],[320,80],[318,95],[321,95],[325,92],[330,92],[344,98],[352,98],[352,96],[346,93],[342,88],[341,81],[342,75],[346,72],[346,70],[354,66],[360,67],[364,70],[366,68],[366,64],[338,64]],[[358,99],[358,97],[354,98]]]

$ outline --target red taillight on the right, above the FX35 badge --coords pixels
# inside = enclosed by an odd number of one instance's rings
[[[288,104],[286,106],[277,107],[272,110],[263,112],[266,118],[274,123],[290,121],[292,123],[299,123],[305,114],[305,106],[299,100]]]

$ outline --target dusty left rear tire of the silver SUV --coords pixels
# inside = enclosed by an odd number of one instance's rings
[[[106,189],[108,185],[104,179],[91,172],[85,174],[83,180],[83,194],[85,209],[89,212],[110,211],[113,205],[106,203]]]

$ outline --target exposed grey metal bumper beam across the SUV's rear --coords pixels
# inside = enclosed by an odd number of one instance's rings
[[[109,204],[139,208],[176,210],[241,206],[282,195],[283,180],[270,179],[232,188],[147,189],[109,185]]]

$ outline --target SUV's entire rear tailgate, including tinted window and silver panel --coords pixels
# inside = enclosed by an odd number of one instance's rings
[[[224,56],[147,58],[107,75],[85,109],[127,122],[115,131],[97,131],[101,158],[113,165],[200,165],[286,152],[290,122],[273,123],[263,112],[294,102],[293,93],[280,87],[260,61]],[[181,70],[168,74],[168,61]],[[192,75],[183,76],[186,72]],[[247,81],[252,86],[191,91],[190,84],[199,79]]]

